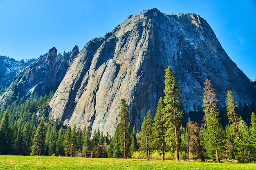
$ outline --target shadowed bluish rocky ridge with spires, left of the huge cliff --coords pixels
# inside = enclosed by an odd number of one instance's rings
[[[9,88],[0,96],[0,103],[12,102],[18,94],[28,99],[34,93],[40,96],[55,92],[77,53],[78,46],[63,55],[57,55],[57,49],[53,47],[14,78]]]

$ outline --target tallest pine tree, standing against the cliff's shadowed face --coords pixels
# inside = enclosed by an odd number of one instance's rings
[[[171,66],[166,68],[164,75],[165,88],[164,88],[164,103],[166,115],[164,117],[166,121],[167,132],[166,134],[171,140],[175,141],[176,148],[176,161],[180,161],[179,146],[180,146],[180,129],[181,121],[183,118],[182,111],[182,94],[179,84],[177,83],[176,75],[172,73]],[[174,129],[173,129],[174,128]],[[174,134],[173,134],[174,132]]]

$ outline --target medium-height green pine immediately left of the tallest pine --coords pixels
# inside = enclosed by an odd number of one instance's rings
[[[163,161],[166,152],[166,126],[164,126],[166,123],[164,120],[164,114],[164,100],[162,97],[160,97],[157,103],[157,113],[154,118],[155,122],[153,123],[153,144],[155,149],[162,153]]]

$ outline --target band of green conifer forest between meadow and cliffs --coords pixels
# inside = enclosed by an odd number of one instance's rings
[[[182,126],[182,93],[176,75],[169,66],[165,73],[165,96],[160,97],[155,117],[148,110],[141,129],[130,127],[128,104],[121,99],[120,123],[113,137],[90,127],[84,129],[64,127],[59,119],[55,122],[47,115],[35,115],[36,110],[46,109],[52,93],[44,97],[34,96],[31,101],[17,97],[8,106],[0,122],[0,154],[11,155],[60,155],[67,157],[136,158],[140,155],[150,160],[166,153],[180,159],[237,159],[241,162],[256,161],[256,116],[252,113],[248,126],[238,114],[238,104],[227,91],[227,117],[225,128],[220,124],[220,110],[211,81],[204,84],[201,121],[189,121]],[[46,101],[46,102],[45,102]],[[11,115],[13,110],[23,114]],[[22,111],[21,111],[22,110]],[[11,120],[11,121],[10,121]],[[132,131],[131,131],[132,130]]]

